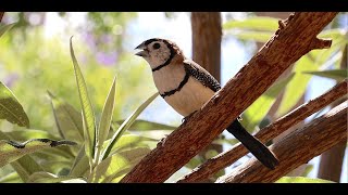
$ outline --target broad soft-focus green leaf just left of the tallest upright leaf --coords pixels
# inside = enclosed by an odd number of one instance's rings
[[[61,136],[82,143],[84,128],[80,113],[65,101],[57,99],[51,92],[48,91],[48,94],[51,98],[53,116]]]

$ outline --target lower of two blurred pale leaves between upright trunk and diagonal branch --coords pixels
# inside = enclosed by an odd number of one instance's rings
[[[228,31],[227,34],[241,40],[266,42],[270,40],[270,38],[273,36],[274,32],[238,30],[238,31]]]

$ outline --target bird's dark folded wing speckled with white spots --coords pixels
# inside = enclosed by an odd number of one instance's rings
[[[195,79],[200,81],[203,86],[210,88],[214,92],[221,89],[219,81],[210,75],[204,68],[198,65],[196,62],[191,60],[184,61],[185,72],[191,75]]]

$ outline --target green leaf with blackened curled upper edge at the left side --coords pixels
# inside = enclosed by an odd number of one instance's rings
[[[24,143],[0,140],[0,168],[23,157],[24,155],[37,152],[39,150],[75,144],[76,143],[71,141],[54,141],[49,139],[32,139]]]

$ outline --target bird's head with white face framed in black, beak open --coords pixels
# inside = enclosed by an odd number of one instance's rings
[[[136,53],[136,55],[144,57],[150,64],[151,68],[171,63],[176,56],[184,58],[181,49],[174,42],[166,39],[148,39],[135,49],[141,50]]]

